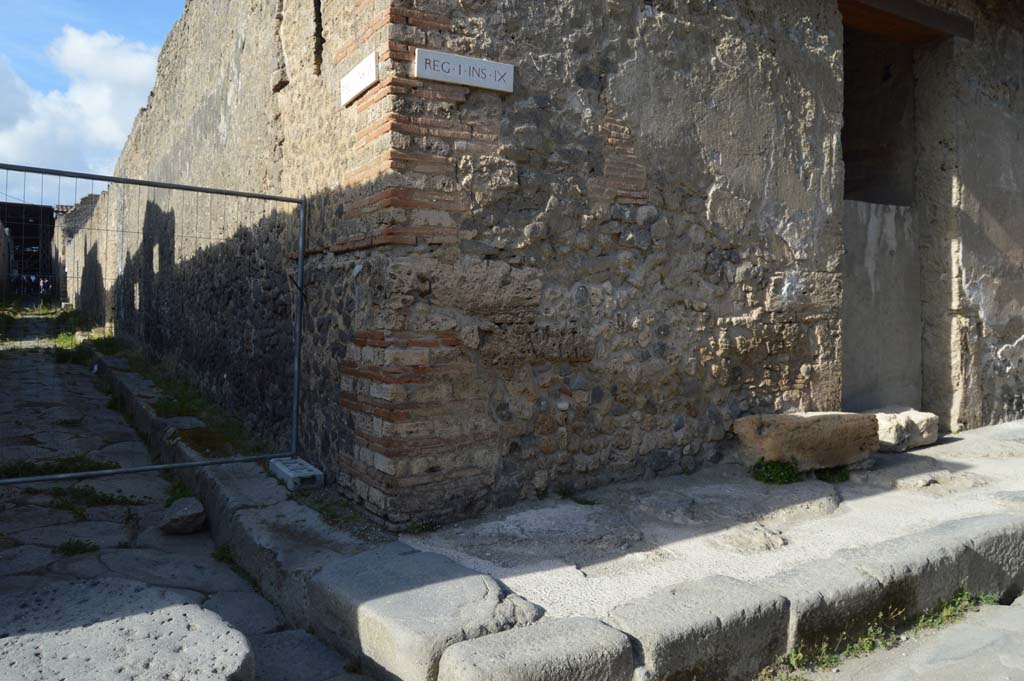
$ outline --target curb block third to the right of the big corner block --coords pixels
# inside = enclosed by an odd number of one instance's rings
[[[815,560],[758,583],[790,601],[787,650],[855,640],[886,608],[882,584],[839,560]]]

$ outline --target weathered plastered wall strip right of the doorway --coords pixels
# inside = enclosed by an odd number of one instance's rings
[[[919,50],[914,74],[924,407],[957,430],[1024,416],[1024,7],[935,4],[976,34]]]

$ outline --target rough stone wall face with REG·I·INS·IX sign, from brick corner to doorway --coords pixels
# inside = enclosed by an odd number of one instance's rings
[[[402,522],[692,470],[739,414],[839,407],[835,7],[379,16],[356,143],[403,165],[350,210],[429,236],[347,343],[352,448],[323,456],[360,502]],[[514,62],[516,91],[411,79],[422,46]]]

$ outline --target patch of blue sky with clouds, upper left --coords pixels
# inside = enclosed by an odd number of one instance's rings
[[[111,172],[184,0],[0,0],[0,161]]]

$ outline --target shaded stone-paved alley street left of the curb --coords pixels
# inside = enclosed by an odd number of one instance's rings
[[[89,368],[55,360],[54,335],[51,320],[23,316],[0,352],[0,477],[69,457],[153,463]],[[252,679],[254,662],[265,681],[354,678],[317,639],[285,631],[208,531],[161,531],[170,487],[157,473],[0,487],[0,676],[165,678],[135,676],[133,666],[153,666],[190,680]],[[232,664],[239,674],[223,675]]]

